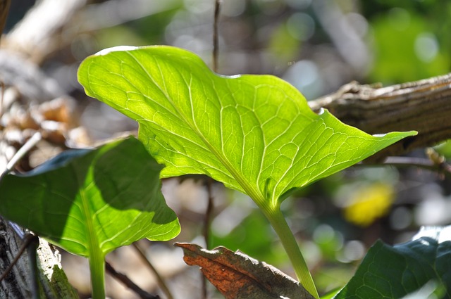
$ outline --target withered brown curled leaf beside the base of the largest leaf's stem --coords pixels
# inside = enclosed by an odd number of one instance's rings
[[[226,299],[314,299],[287,274],[240,251],[224,247],[206,250],[193,243],[175,243],[183,248],[187,265],[202,273]]]

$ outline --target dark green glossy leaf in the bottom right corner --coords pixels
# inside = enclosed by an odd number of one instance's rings
[[[440,298],[451,298],[450,231],[451,227],[434,227],[421,231],[413,241],[393,247],[376,242],[334,298],[403,298],[430,286],[431,281],[447,290]]]

